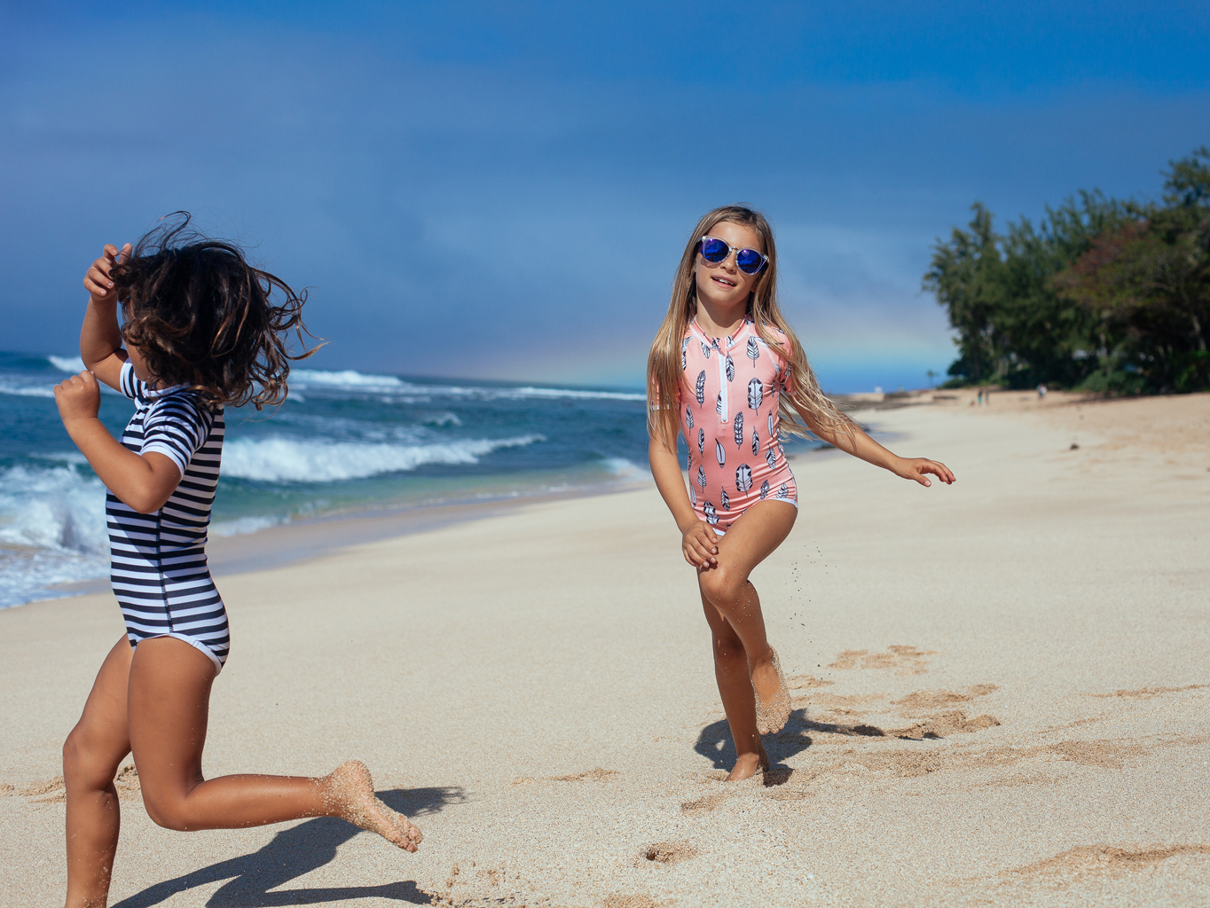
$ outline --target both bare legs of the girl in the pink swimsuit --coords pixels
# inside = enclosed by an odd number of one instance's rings
[[[753,688],[766,701],[780,692],[760,597],[748,574],[790,534],[797,514],[785,502],[757,502],[719,539],[718,567],[698,571],[714,638],[714,676],[736,742],[731,781],[747,779],[768,763],[756,731]]]

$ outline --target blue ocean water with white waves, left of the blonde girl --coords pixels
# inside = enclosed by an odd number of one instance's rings
[[[0,607],[108,573],[105,491],[59,422],[74,355],[0,353]],[[213,534],[650,481],[641,393],[294,369],[277,410],[227,410]],[[104,389],[115,434],[133,404]]]

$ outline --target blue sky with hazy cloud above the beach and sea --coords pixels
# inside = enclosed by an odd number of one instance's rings
[[[825,387],[918,387],[935,238],[1157,195],[1208,47],[1205,4],[6,2],[0,347],[73,351],[100,245],[184,208],[313,288],[317,366],[640,384],[741,201]]]

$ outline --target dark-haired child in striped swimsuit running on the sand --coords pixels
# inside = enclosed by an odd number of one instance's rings
[[[68,908],[106,902],[120,820],[114,776],[128,753],[148,814],[172,829],[339,816],[408,851],[421,839],[375,797],[357,760],[317,779],[202,777],[211,686],[230,646],[206,563],[223,409],[286,398],[289,360],[300,358],[286,340],[305,331],[305,297],[188,225],[184,215],[134,249],[105,247],[83,279],[87,370],[54,388],[68,434],[109,488],[110,573],[126,621],[63,745]],[[97,418],[98,381],[134,401],[121,441]]]

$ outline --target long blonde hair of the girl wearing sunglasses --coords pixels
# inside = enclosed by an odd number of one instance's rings
[[[748,316],[761,340],[790,366],[793,389],[790,394],[780,397],[778,405],[782,428],[794,435],[809,432],[799,413],[791,409],[793,400],[822,428],[851,432],[852,421],[820,391],[802,345],[777,305],[777,247],[772,225],[760,212],[742,206],[724,206],[708,212],[690,235],[673,279],[668,314],[651,343],[651,352],[647,354],[647,434],[659,438],[669,450],[676,450],[676,433],[680,430],[676,392],[681,384],[681,341],[690,322],[697,317],[697,279],[693,270],[698,243],[722,222],[755,230],[765,245],[765,255],[768,256],[768,262],[748,297]],[[782,332],[788,343],[784,345],[773,335],[771,325]]]

